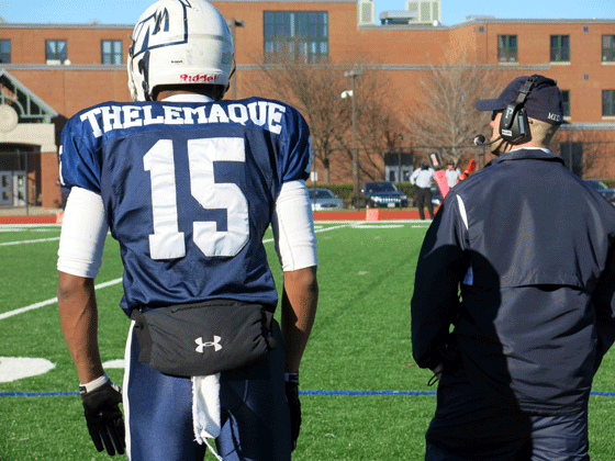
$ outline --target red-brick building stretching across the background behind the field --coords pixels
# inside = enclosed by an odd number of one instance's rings
[[[421,95],[418,77],[451,57],[501,70],[508,80],[543,74],[564,91],[566,130],[602,143],[588,176],[615,178],[615,19],[474,16],[445,26],[439,2],[432,0],[409,1],[407,11],[387,12],[376,25],[370,0],[213,3],[236,42],[235,87],[227,97],[251,95],[247,80],[279,46],[331,64],[360,55],[396,82],[396,99],[409,102]],[[422,22],[411,3],[429,3],[429,20]],[[62,127],[86,106],[130,100],[125,63],[132,30],[133,24],[0,23],[0,206],[59,205]],[[584,161],[582,142],[568,149]]]

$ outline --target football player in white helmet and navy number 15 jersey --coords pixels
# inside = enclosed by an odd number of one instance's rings
[[[132,461],[202,460],[209,436],[225,461],[289,460],[301,424],[299,366],[317,304],[304,182],[309,127],[278,101],[222,99],[235,68],[233,40],[209,2],[159,0],[132,38],[135,102],[79,112],[66,124],[60,148],[62,181],[71,191],[58,250],[58,304],[88,429],[99,451],[125,451]],[[281,328],[272,324],[278,348],[221,372],[203,391],[194,379],[141,362],[133,322],[120,391],[104,373],[97,339],[94,278],[108,229],[120,244],[120,305],[130,317],[134,310],[216,301],[273,312],[278,293],[262,243],[269,225],[283,270]],[[200,432],[201,417],[212,430]]]

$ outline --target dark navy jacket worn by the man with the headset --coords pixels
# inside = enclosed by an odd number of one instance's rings
[[[559,156],[492,160],[448,193],[425,236],[416,363],[463,367],[494,404],[578,412],[615,340],[614,250],[615,206]]]

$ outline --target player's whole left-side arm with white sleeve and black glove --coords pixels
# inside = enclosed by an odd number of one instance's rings
[[[124,453],[120,389],[104,370],[98,347],[94,278],[102,262],[108,224],[102,199],[72,188],[58,249],[58,310],[62,331],[77,368],[88,431],[98,451]]]

